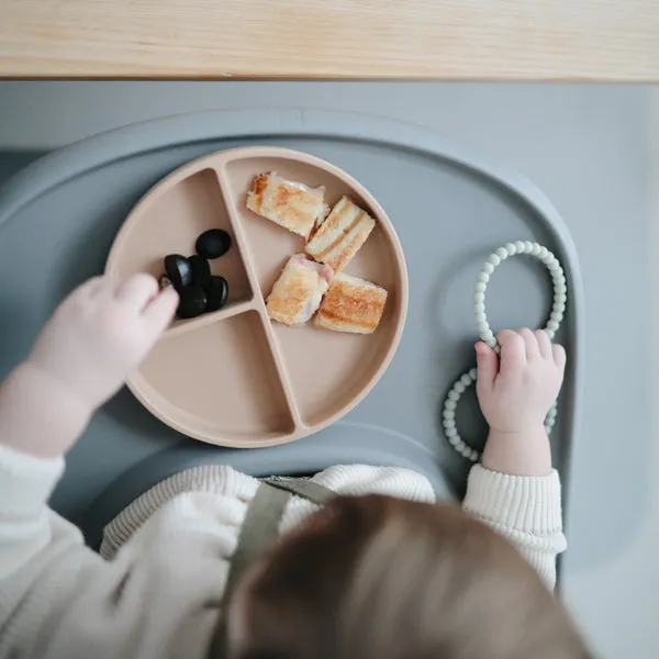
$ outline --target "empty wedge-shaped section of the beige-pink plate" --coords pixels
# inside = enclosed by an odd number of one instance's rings
[[[165,423],[211,444],[255,447],[295,432],[256,311],[160,340],[130,384]]]

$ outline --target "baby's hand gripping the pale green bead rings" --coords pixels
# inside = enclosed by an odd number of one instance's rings
[[[476,390],[481,410],[498,433],[527,434],[544,425],[563,379],[566,351],[544,330],[506,330],[498,335],[501,357],[476,346]]]

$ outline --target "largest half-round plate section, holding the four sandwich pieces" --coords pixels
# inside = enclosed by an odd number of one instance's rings
[[[228,155],[228,154],[227,154]],[[334,205],[343,194],[368,211],[377,221],[370,237],[347,266],[345,272],[368,279],[389,291],[380,327],[372,335],[351,335],[315,328],[311,323],[287,327],[267,319],[277,346],[284,379],[306,427],[322,427],[343,415],[370,390],[388,364],[391,346],[404,315],[406,281],[404,265],[396,256],[398,242],[389,220],[356,181],[315,159],[289,157],[234,157],[219,169],[230,212],[245,242],[247,268],[253,270],[255,288],[265,300],[290,256],[304,252],[304,238],[247,210],[247,191],[254,177],[263,171],[324,186],[325,199]],[[402,271],[403,269],[403,271]],[[265,313],[265,306],[261,306]]]

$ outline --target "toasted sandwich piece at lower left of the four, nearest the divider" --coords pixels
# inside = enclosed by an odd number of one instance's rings
[[[330,266],[314,264],[303,254],[291,256],[268,295],[268,315],[284,325],[306,323],[317,311],[332,283]]]

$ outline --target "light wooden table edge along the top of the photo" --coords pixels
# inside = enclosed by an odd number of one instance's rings
[[[659,80],[656,0],[4,0],[5,79]]]

